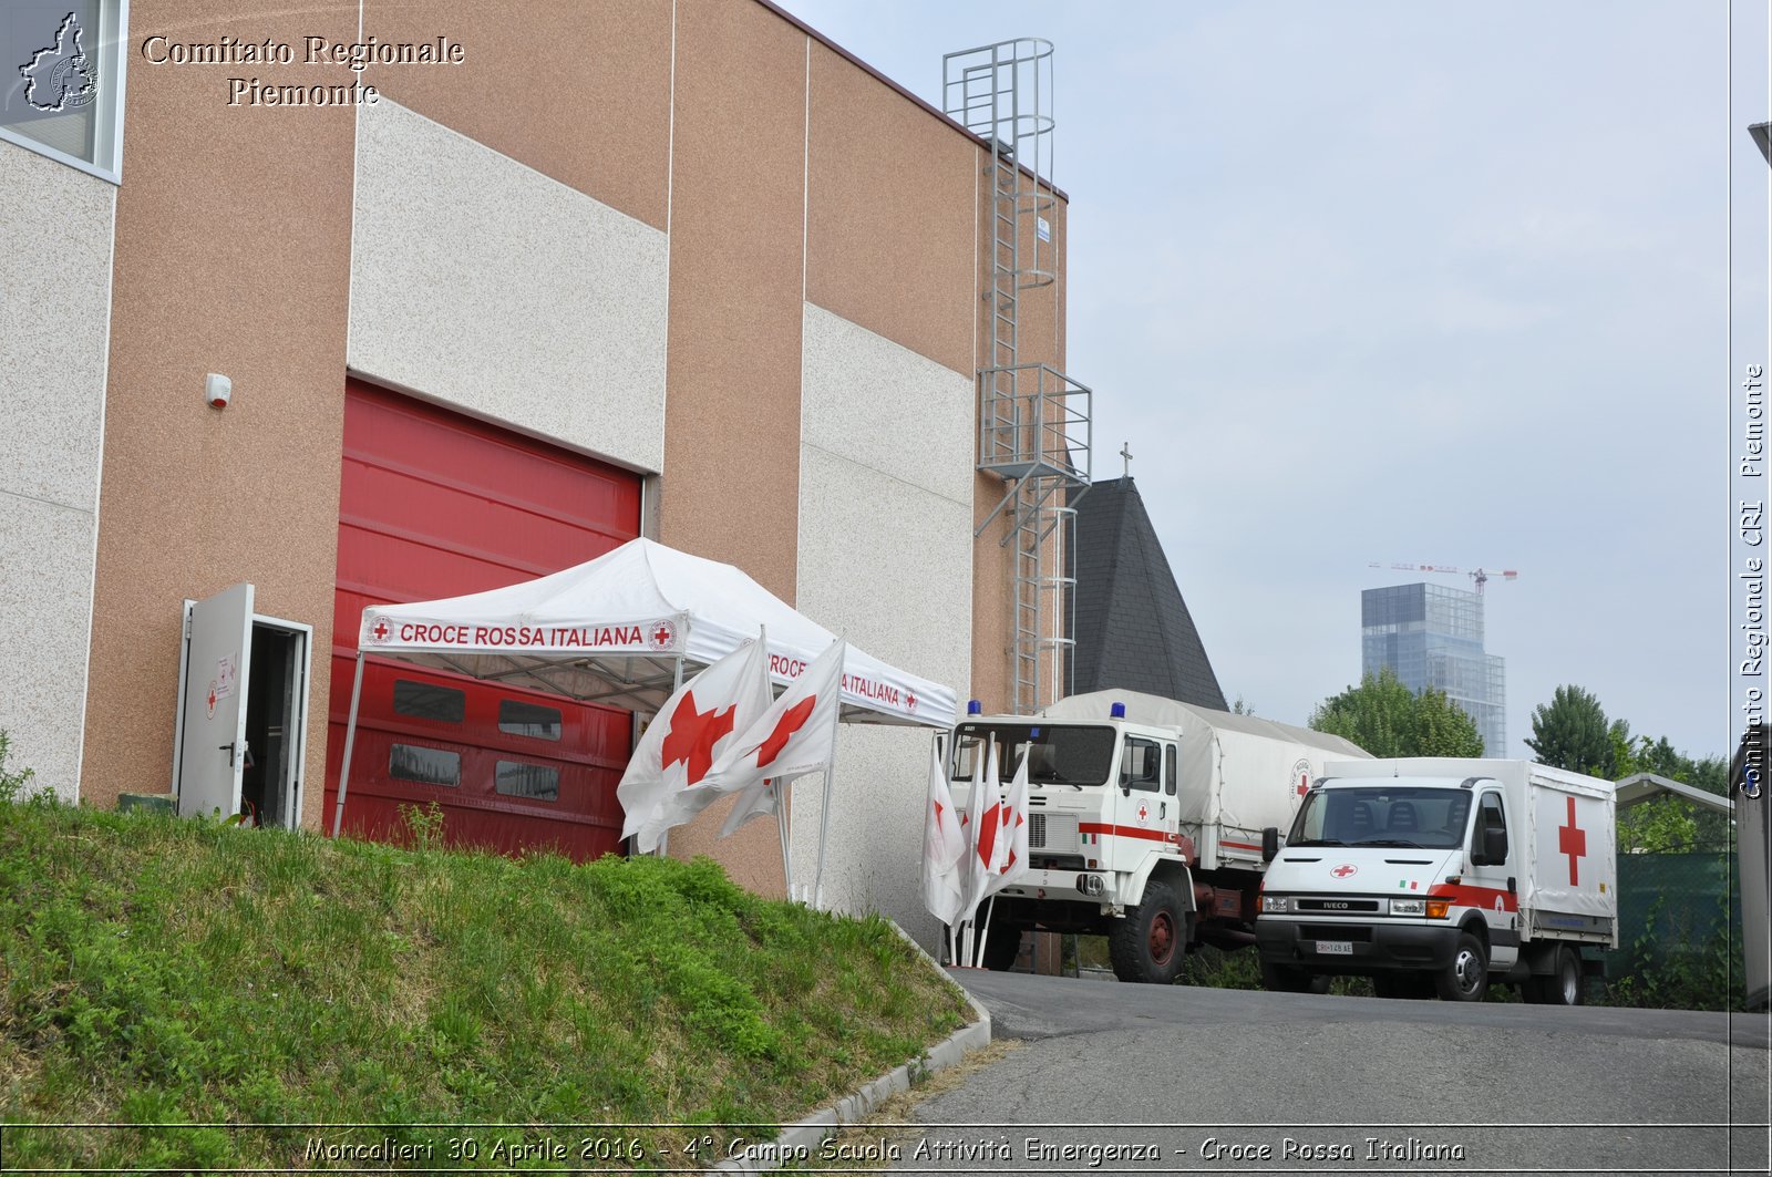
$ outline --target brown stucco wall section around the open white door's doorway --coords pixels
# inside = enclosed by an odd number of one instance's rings
[[[218,16],[218,12],[229,12]],[[354,9],[138,0],[154,34],[353,39]],[[82,794],[170,787],[181,603],[237,581],[314,626],[305,821],[326,748],[353,112],[227,106],[229,74],[129,60]],[[234,402],[202,399],[204,374]]]

